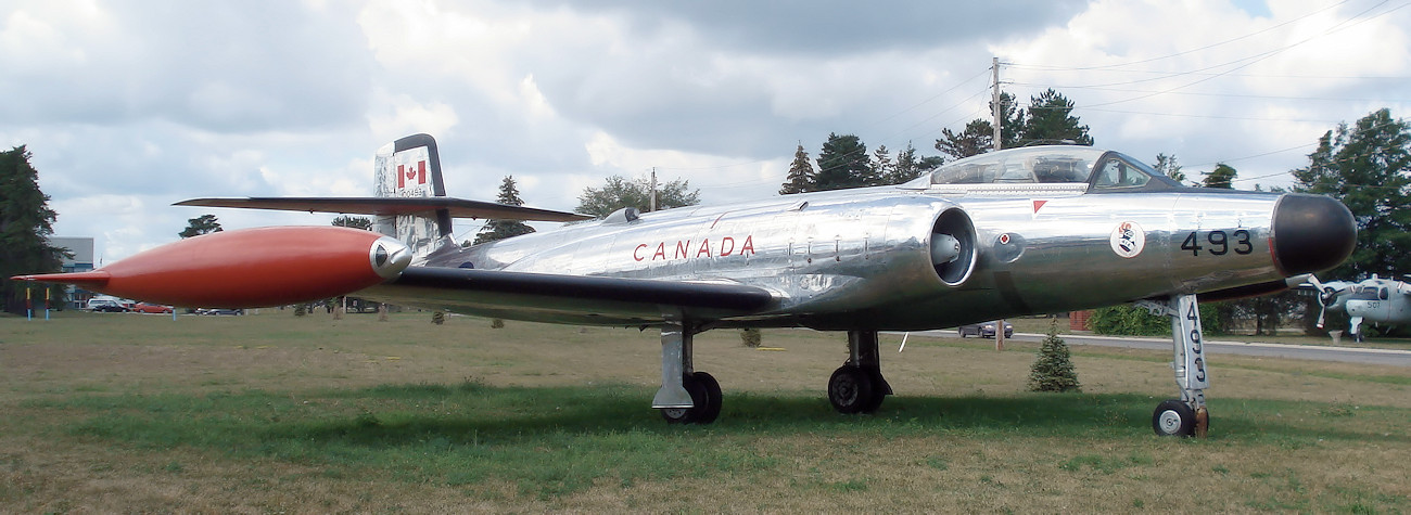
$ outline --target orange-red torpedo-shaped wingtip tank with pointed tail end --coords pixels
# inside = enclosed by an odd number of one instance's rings
[[[326,299],[395,278],[411,250],[347,227],[262,227],[161,246],[92,272],[17,275],[188,308],[261,308]]]

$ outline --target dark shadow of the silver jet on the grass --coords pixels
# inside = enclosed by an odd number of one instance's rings
[[[425,385],[408,385],[406,389],[425,389]],[[377,387],[353,395],[377,396],[377,392],[394,394],[406,399],[399,387]],[[680,433],[693,428],[711,433],[848,433],[883,432],[895,435],[927,435],[933,432],[954,432],[957,436],[1112,436],[1125,437],[1144,435],[1141,430],[1150,419],[1143,406],[1150,396],[1140,394],[1051,394],[1024,395],[1016,398],[993,396],[897,396],[889,409],[876,415],[840,415],[831,409],[827,399],[797,395],[739,394],[724,409],[731,416],[725,423],[713,426],[662,426],[653,411],[642,409],[636,402],[638,387],[595,387],[590,389],[571,387],[473,387],[471,391],[456,391],[446,387],[443,392],[422,391],[419,401],[425,406],[442,401],[460,404],[460,412],[436,415],[388,409],[385,413],[363,413],[354,418],[323,420],[317,423],[289,423],[268,428],[270,439],[301,439],[315,442],[343,442],[367,446],[398,446],[404,443],[444,439],[447,442],[478,443],[535,439],[545,435],[607,435],[624,432]],[[518,404],[505,406],[495,396],[507,395]],[[457,399],[457,396],[460,396]],[[477,406],[480,399],[488,399],[492,406]],[[1240,401],[1230,401],[1232,404]],[[1215,437],[1221,435],[1237,439],[1273,439],[1277,442],[1326,440],[1394,440],[1411,443],[1411,436],[1398,433],[1370,433],[1366,430],[1338,429],[1338,416],[1319,418],[1338,408],[1329,405],[1309,406],[1308,402],[1267,402],[1266,408],[1230,409]],[[1314,409],[1314,420],[1302,425],[1274,420],[1277,415]],[[1350,415],[1342,415],[1350,416]]]

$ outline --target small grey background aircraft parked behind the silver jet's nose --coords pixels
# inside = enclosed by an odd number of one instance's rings
[[[1355,341],[1363,340],[1362,322],[1404,325],[1411,323],[1411,285],[1403,281],[1383,279],[1376,274],[1360,282],[1321,282],[1309,275],[1308,284],[1318,289],[1318,327],[1324,326],[1324,315],[1332,309],[1350,317],[1348,334]]]

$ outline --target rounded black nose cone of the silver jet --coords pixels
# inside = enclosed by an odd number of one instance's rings
[[[1342,264],[1357,246],[1357,223],[1342,202],[1288,193],[1274,206],[1274,261],[1284,275],[1321,272]]]

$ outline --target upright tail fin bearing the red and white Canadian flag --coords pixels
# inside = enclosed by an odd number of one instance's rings
[[[436,138],[429,134],[412,134],[378,148],[373,168],[377,181],[375,193],[380,198],[446,196]],[[444,207],[420,213],[380,214],[374,229],[405,243],[418,258],[439,248],[443,238],[454,244],[450,210]]]

